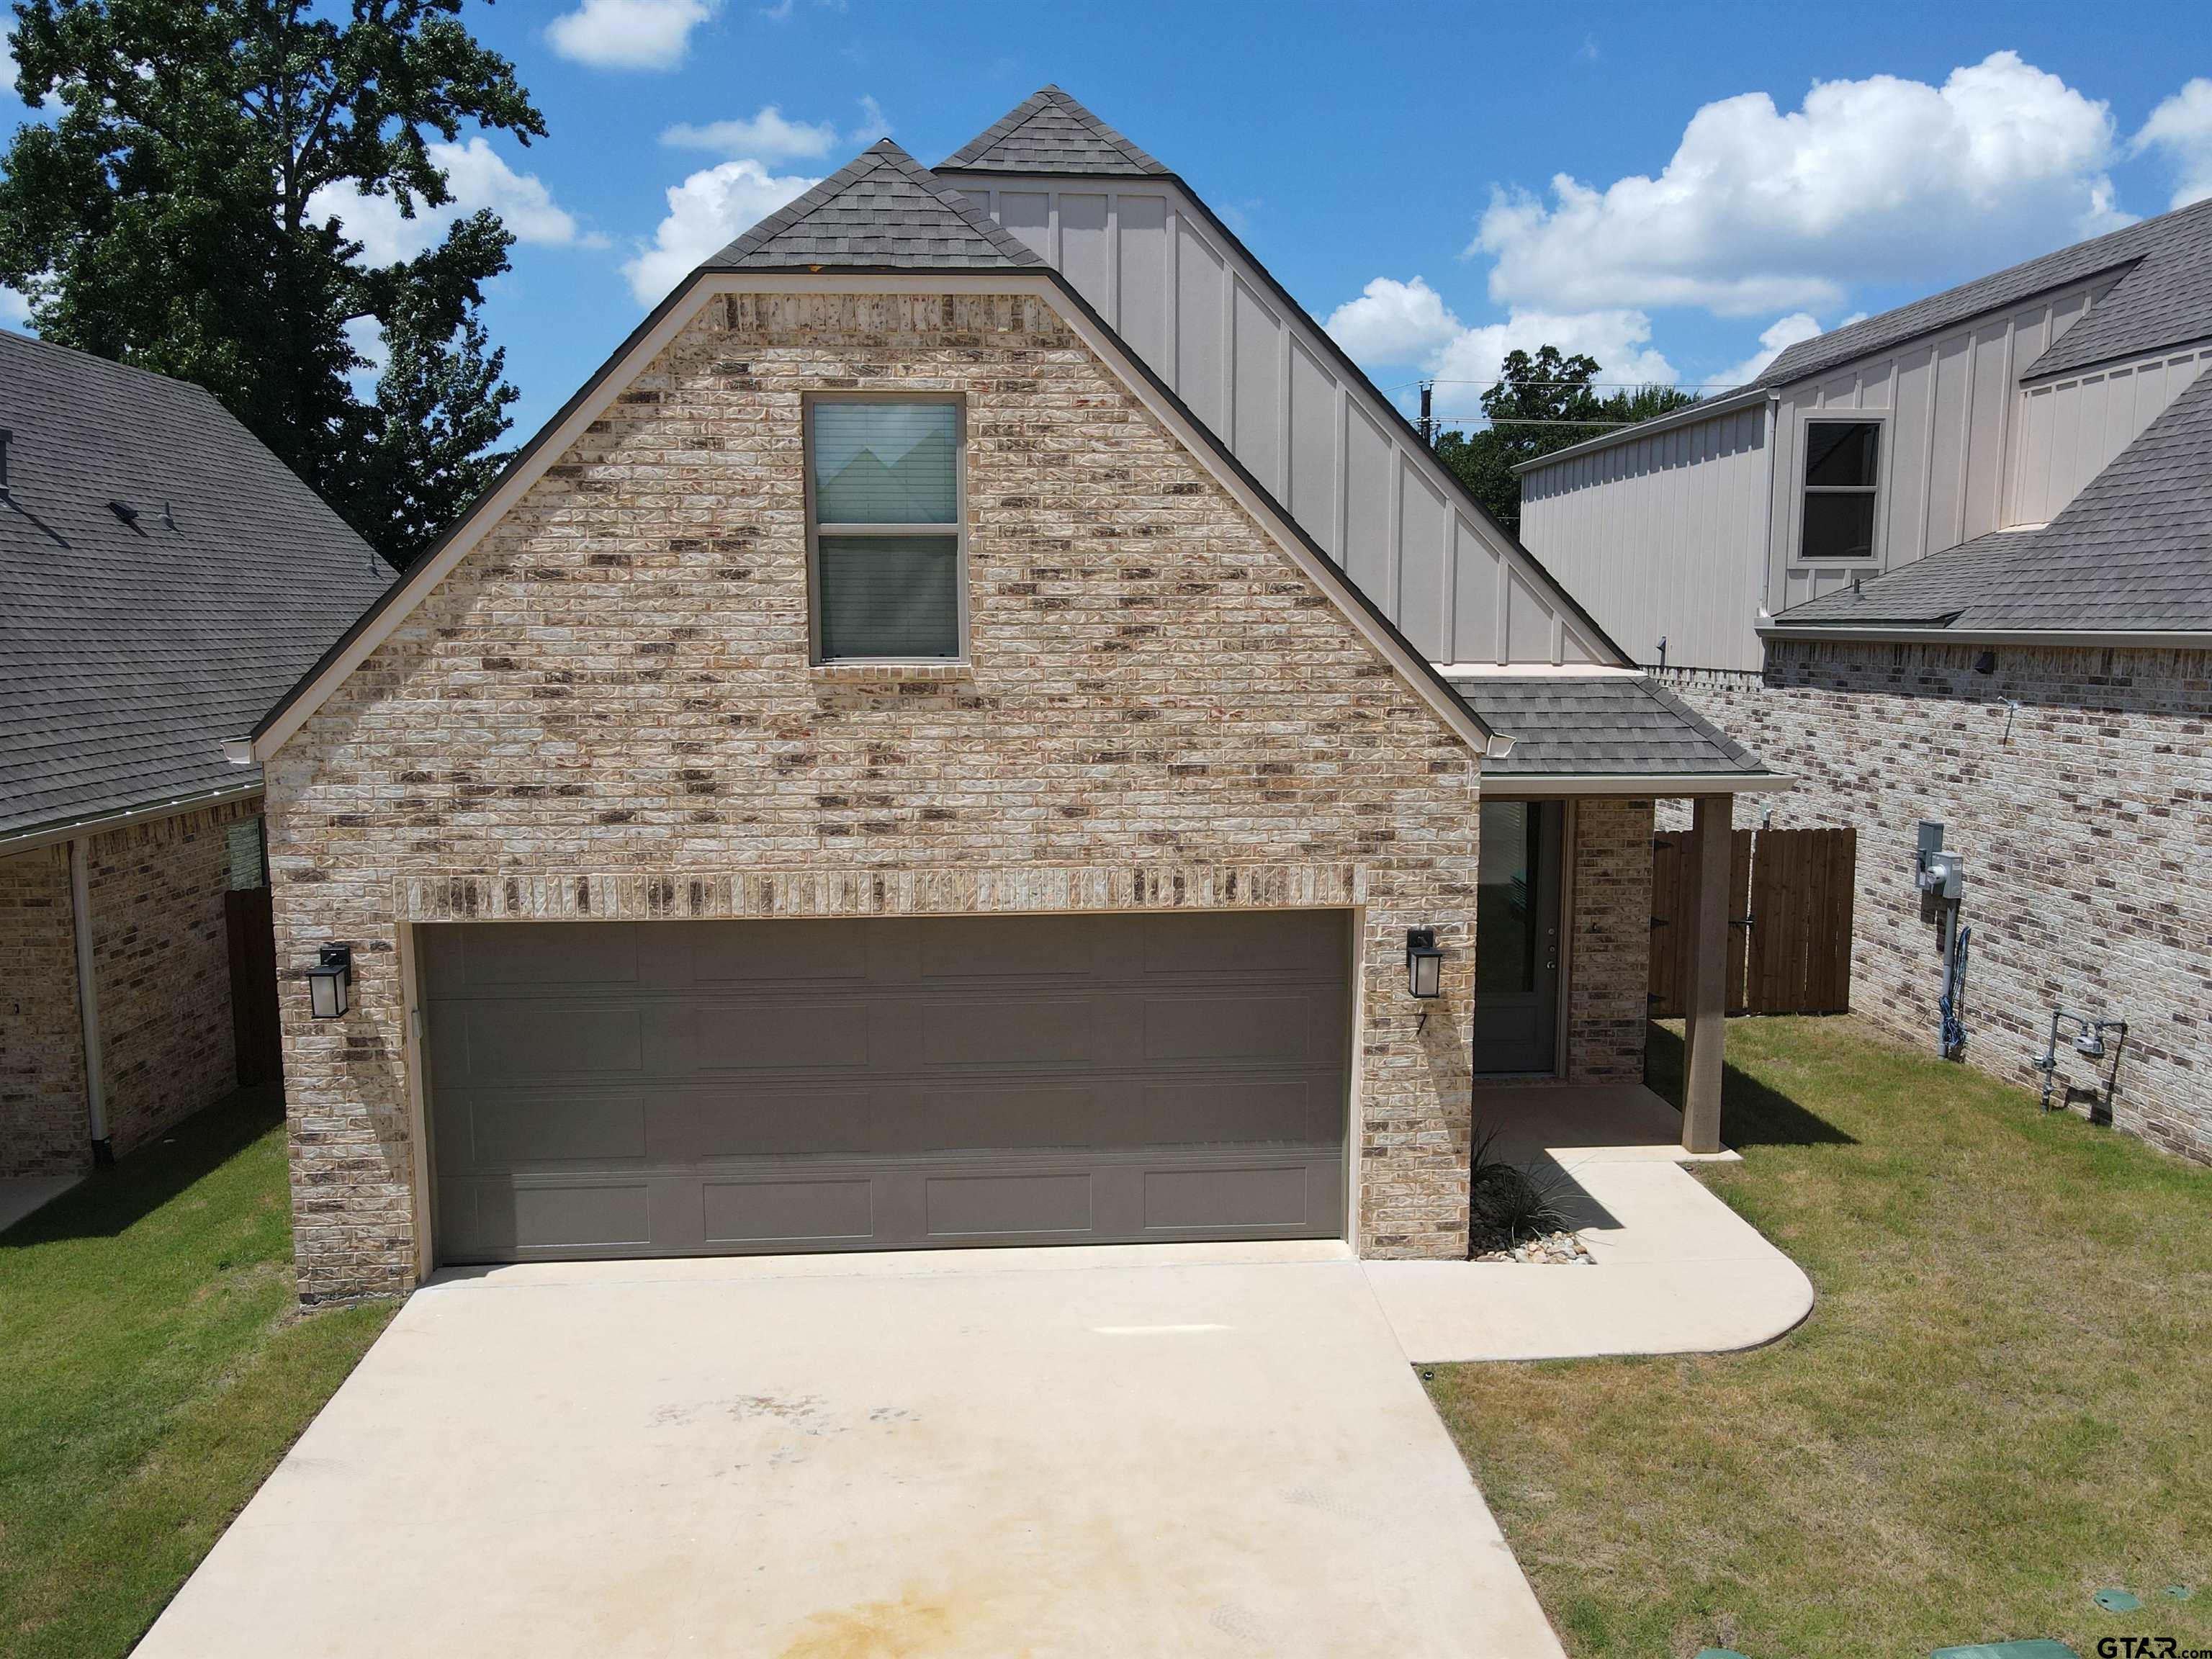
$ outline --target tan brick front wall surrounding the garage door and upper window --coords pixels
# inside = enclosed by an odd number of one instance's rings
[[[807,664],[801,394],[852,387],[967,398],[971,675]],[[1458,1256],[1478,785],[1042,301],[714,299],[268,768],[303,1296],[414,1281],[396,945],[451,907],[1298,902],[1349,880],[1358,1237]],[[1451,949],[1425,1024],[1411,925]],[[354,1015],[316,1024],[299,975],[330,940],[356,951]]]

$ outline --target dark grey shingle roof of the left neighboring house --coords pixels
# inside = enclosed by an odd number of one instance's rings
[[[184,380],[0,332],[0,836],[252,783],[223,739],[392,568]]]

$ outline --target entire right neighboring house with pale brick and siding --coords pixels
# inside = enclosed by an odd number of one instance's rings
[[[1966,1060],[2212,1159],[2212,201],[1794,345],[1522,471],[1522,533],[1856,825],[1860,1004],[1936,1042],[1916,823],[1964,852]],[[1606,606],[1619,606],[1608,611]],[[2115,1086],[2117,1082],[2117,1086]]]

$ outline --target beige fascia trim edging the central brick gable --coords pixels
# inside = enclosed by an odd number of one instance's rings
[[[416,606],[500,524],[500,520],[544,478],[568,447],[584,436],[593,420],[606,414],[608,405],[635,380],[646,365],[675,341],[706,301],[723,294],[1033,294],[1053,307],[1139,403],[1159,420],[1183,449],[1212,473],[1239,507],[1243,507],[1270,538],[1283,549],[1323,593],[1327,593],[1347,622],[1374,646],[1398,675],[1420,692],[1422,701],[1460,737],[1471,750],[1482,754],[1491,730],[1449,688],[1433,681],[1433,670],[1407,648],[1387,626],[1380,626],[1367,611],[1352,580],[1336,566],[1316,557],[1298,533],[1298,526],[1281,513],[1272,500],[1245,482],[1232,467],[1221,465],[1221,456],[1210,434],[1192,418],[1161,398],[1137,356],[1106,327],[1093,323],[1079,305],[1068,303],[1073,290],[1062,288],[1062,279],[1051,270],[1004,270],[1004,272],[701,272],[686,290],[681,303],[670,303],[661,319],[639,334],[637,341],[608,369],[597,387],[597,396],[568,409],[549,431],[533,440],[526,465],[515,467],[498,489],[478,498],[456,533],[429,560],[400,577],[392,602],[347,641],[312,684],[285,703],[283,712],[270,721],[268,730],[246,741],[246,759],[239,759],[234,743],[226,752],[239,765],[268,765],[270,757],[305,726],[314,712],[336,692],[345,679],[361,668],[369,655],[383,646],[414,615]]]

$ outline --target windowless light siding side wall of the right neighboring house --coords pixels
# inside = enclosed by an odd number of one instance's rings
[[[1522,542],[1644,664],[1759,668],[1767,403],[1522,473]]]

